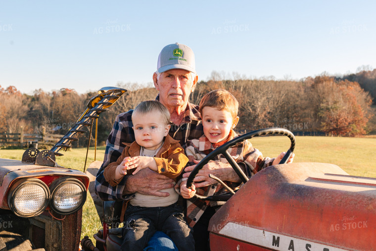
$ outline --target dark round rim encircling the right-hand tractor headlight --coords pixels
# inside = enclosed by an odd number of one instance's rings
[[[82,199],[81,199],[81,201],[79,201],[79,203],[77,203],[77,205],[74,207],[74,209],[72,209],[72,210],[63,210],[63,209],[59,208],[58,205],[56,205],[56,203],[55,203],[55,201],[56,201],[55,197],[56,197],[56,194],[59,192],[59,190],[61,188],[63,188],[65,185],[70,185],[70,184],[77,185],[77,187],[79,189],[81,189]],[[78,211],[79,209],[81,209],[82,206],[85,204],[86,196],[87,196],[86,187],[78,179],[70,178],[70,177],[62,177],[60,179],[55,180],[49,186],[49,190],[50,190],[50,193],[51,193],[50,201],[49,201],[49,206],[52,208],[53,211],[55,211],[55,212],[57,212],[59,214],[71,214],[71,213],[74,213],[74,212]]]

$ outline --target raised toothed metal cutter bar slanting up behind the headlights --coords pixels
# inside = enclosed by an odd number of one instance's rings
[[[78,133],[85,133],[84,126],[92,129],[94,119],[99,117],[99,113],[106,111],[114,104],[127,90],[117,87],[103,87],[98,91],[98,95],[88,102],[88,108],[77,120],[76,124],[50,149],[39,151],[36,148],[29,148],[22,156],[22,162],[43,166],[58,166],[55,156],[61,156],[58,152],[61,149],[71,148],[72,141],[77,141],[75,137]],[[86,164],[86,163],[85,163]]]

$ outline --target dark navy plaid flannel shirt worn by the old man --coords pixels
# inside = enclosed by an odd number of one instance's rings
[[[156,100],[159,100],[159,95]],[[129,110],[116,117],[106,142],[103,164],[99,168],[95,179],[95,193],[103,201],[130,200],[134,197],[134,194],[127,194],[125,190],[129,175],[124,176],[116,187],[111,187],[103,176],[104,168],[109,163],[115,162],[121,155],[125,148],[123,143],[132,143],[136,140],[135,132],[132,129],[132,113],[133,110]],[[188,140],[197,139],[203,135],[198,105],[188,103],[182,123],[179,126],[173,123],[170,123],[170,125],[169,135],[175,140],[179,140],[183,148],[185,148]]]

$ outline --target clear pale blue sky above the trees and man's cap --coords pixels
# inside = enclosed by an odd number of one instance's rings
[[[4,1],[0,86],[22,93],[151,83],[160,50],[212,71],[300,79],[376,67],[376,1]]]

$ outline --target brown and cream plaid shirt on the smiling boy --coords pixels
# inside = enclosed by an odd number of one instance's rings
[[[236,133],[231,130],[229,141],[238,137]],[[186,155],[189,159],[188,166],[193,165],[193,159],[201,160],[207,154],[214,150],[212,143],[202,135],[199,139],[194,139],[187,142],[186,145]],[[239,142],[234,147],[227,150],[230,155],[235,159],[236,162],[243,162],[244,165],[239,165],[245,174],[248,177],[251,177],[253,174],[257,173],[261,169],[272,165],[274,158],[263,157],[262,153],[257,149],[252,147],[252,144],[249,141]],[[221,161],[223,163],[228,163],[227,159],[222,155],[218,155],[214,160]],[[245,169],[245,170],[244,170]],[[226,185],[232,189],[237,188],[240,184],[224,181]],[[181,183],[181,180],[178,182],[178,186]],[[196,194],[203,196],[212,196],[218,195],[227,192],[226,188],[221,184],[214,184],[208,187],[196,188]],[[214,209],[218,209],[219,205],[224,204],[224,201],[203,201],[196,197],[193,197],[187,201],[187,222],[193,227],[194,224],[198,221],[201,215],[204,213],[205,209],[210,206]]]

